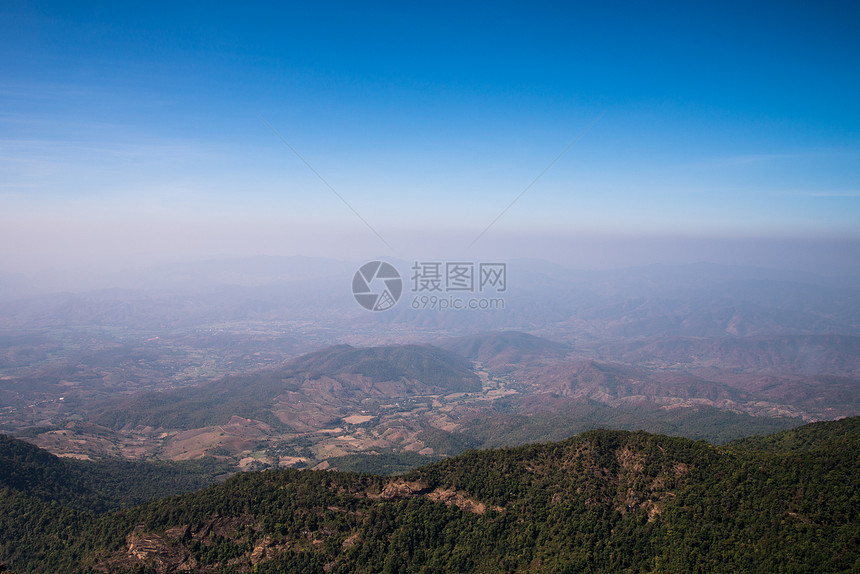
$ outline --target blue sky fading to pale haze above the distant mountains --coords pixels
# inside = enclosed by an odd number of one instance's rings
[[[4,1],[0,269],[860,262],[860,7],[700,4]]]

